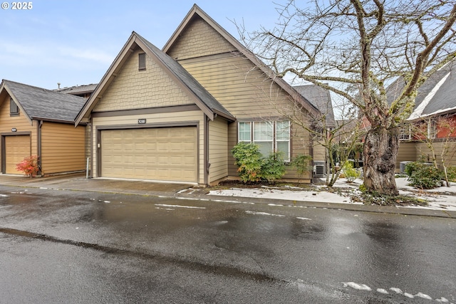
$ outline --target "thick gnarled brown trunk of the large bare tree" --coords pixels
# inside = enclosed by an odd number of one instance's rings
[[[368,131],[364,142],[364,186],[368,192],[399,194],[394,176],[398,148],[397,129],[376,127]]]

